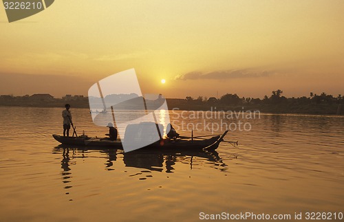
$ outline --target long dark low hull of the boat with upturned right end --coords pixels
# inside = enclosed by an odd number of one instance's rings
[[[207,149],[215,150],[219,143],[223,141],[224,136],[228,133],[225,131],[223,135],[213,136],[206,140],[169,140],[164,139],[162,141],[154,142],[149,146],[144,146],[144,149],[172,149],[172,150],[182,150],[182,149]],[[122,148],[122,143],[120,141],[111,141],[104,138],[94,138],[87,136],[80,137],[63,137],[61,135],[52,135],[55,140],[61,142],[64,145],[74,145],[74,146],[98,146],[100,148]],[[142,148],[140,148],[141,150]]]

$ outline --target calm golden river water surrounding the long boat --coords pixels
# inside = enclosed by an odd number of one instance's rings
[[[61,111],[0,107],[0,221],[197,221],[200,212],[344,212],[343,117],[261,115],[243,120],[250,131],[226,136],[239,140],[237,148],[222,143],[215,153],[131,154],[58,147],[52,134],[62,133]],[[72,113],[79,134],[107,133],[94,126],[87,109]],[[170,118],[182,135],[191,135],[181,131],[182,121],[204,121],[176,113]]]

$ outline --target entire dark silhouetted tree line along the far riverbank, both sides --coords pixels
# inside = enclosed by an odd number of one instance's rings
[[[264,98],[244,98],[237,94],[227,93],[220,98],[199,96],[185,99],[167,98],[169,109],[202,110],[202,111],[261,111],[262,113],[309,113],[309,114],[344,114],[344,97],[332,96],[325,92],[320,95],[310,93],[309,96],[286,98],[283,91],[277,89]],[[19,107],[64,107],[69,103],[73,108],[89,109],[88,98],[84,96],[66,95],[54,98],[50,94],[34,94],[32,96],[1,95],[0,106]]]

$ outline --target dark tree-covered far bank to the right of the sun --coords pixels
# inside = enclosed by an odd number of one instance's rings
[[[270,96],[260,98],[240,98],[237,94],[227,93],[221,98],[192,98],[187,96],[184,101],[169,102],[171,107],[178,107],[181,110],[217,110],[217,111],[261,111],[263,113],[309,113],[309,114],[337,114],[344,113],[344,98],[341,95],[336,97],[327,93],[310,93],[310,96],[299,98],[286,98],[282,96],[283,91],[277,89],[272,91]]]

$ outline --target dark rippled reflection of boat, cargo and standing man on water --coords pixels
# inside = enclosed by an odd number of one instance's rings
[[[66,189],[65,195],[69,195],[70,188],[73,187],[72,183],[72,171],[78,164],[84,164],[85,158],[105,159],[105,170],[120,170],[127,172],[123,168],[138,168],[140,172],[129,175],[133,177],[139,175],[139,179],[147,179],[146,177],[152,177],[147,173],[160,172],[160,173],[174,173],[178,170],[178,163],[188,164],[192,170],[195,166],[200,165],[208,168],[215,168],[216,170],[227,170],[227,165],[222,162],[219,157],[219,153],[216,151],[131,151],[124,153],[122,150],[117,149],[100,149],[90,147],[72,147],[72,146],[56,146],[53,154],[62,155],[60,173],[63,182],[63,188]],[[80,159],[83,159],[80,162]],[[120,164],[122,160],[124,166]],[[115,163],[116,162],[116,163]],[[92,162],[94,164],[94,162]],[[75,166],[75,167],[74,167]],[[178,166],[180,167],[180,165]],[[197,168],[198,168],[197,167]],[[96,168],[98,168],[96,166]],[[185,168],[184,168],[185,170]],[[78,172],[78,170],[76,170]],[[79,171],[80,173],[80,171]],[[141,177],[142,174],[146,177]],[[74,181],[75,182],[75,181]],[[73,199],[69,199],[73,201]]]

